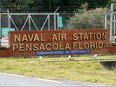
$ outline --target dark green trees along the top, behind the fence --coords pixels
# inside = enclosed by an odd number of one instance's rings
[[[0,0],[0,7],[10,11],[59,11],[73,12],[80,8],[81,4],[88,3],[89,8],[105,7],[113,0]]]

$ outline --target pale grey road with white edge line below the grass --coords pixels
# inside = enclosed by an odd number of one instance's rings
[[[47,80],[0,73],[0,87],[116,87],[70,80]]]

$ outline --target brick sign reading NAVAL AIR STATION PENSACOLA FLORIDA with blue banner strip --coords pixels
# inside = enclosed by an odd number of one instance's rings
[[[104,54],[108,52],[109,31],[11,31],[9,41],[12,56]]]

